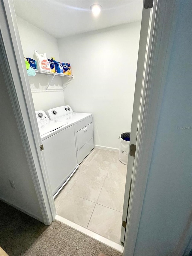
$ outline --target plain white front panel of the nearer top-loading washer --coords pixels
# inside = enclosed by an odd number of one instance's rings
[[[54,195],[77,167],[73,126],[45,139],[44,155],[48,176]]]

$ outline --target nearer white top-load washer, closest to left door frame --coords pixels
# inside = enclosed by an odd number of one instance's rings
[[[73,125],[35,111],[53,198],[78,168]]]

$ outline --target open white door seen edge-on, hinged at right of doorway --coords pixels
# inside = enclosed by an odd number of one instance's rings
[[[142,95],[145,94],[145,89],[143,88],[143,84],[147,79],[147,73],[148,73],[149,53],[151,50],[155,7],[156,7],[156,2],[154,2],[153,4],[153,1],[145,0],[143,3],[141,34],[140,34],[139,53],[138,53],[138,60],[137,60],[137,74],[136,74],[135,94],[134,94],[134,106],[133,106],[133,114],[132,114],[132,122],[131,122],[130,150],[131,150],[131,145],[137,145],[137,133],[139,128],[139,120],[140,120],[140,115],[142,115],[142,111],[143,111]],[[131,152],[134,153],[134,146]],[[127,177],[126,177],[126,184],[125,184],[125,197],[124,197],[124,205],[123,205],[122,230],[121,230],[121,242],[123,243],[125,241],[125,230],[127,225],[127,215],[128,215],[128,207],[129,207],[129,196],[131,191],[134,158],[135,158],[134,156],[131,156],[129,154],[128,165],[127,165]]]

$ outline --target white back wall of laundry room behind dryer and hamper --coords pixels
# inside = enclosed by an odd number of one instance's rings
[[[139,36],[134,22],[58,39],[60,59],[74,75],[65,104],[93,113],[95,145],[119,148],[119,135],[130,131]]]

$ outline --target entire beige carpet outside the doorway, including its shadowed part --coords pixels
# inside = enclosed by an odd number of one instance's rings
[[[1,201],[0,209],[0,246],[9,256],[122,256],[58,221],[47,227]]]

